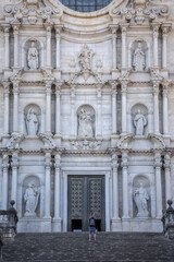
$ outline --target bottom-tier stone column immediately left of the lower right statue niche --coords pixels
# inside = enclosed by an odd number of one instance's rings
[[[122,179],[123,179],[123,217],[129,218],[128,215],[128,155],[126,151],[122,152]]]

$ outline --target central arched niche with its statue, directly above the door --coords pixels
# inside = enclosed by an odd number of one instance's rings
[[[96,112],[90,105],[82,105],[77,109],[77,136],[78,139],[96,136]]]

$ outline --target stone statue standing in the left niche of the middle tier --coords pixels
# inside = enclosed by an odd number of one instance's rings
[[[28,135],[37,135],[39,129],[39,121],[34,108],[29,108],[26,116],[26,128]]]

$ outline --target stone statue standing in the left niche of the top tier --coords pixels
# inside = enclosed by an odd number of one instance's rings
[[[29,70],[37,70],[39,67],[39,53],[37,48],[35,47],[35,43],[32,41],[32,47],[28,50],[28,68]]]

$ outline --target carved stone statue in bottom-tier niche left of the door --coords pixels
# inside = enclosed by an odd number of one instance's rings
[[[36,216],[36,207],[39,199],[39,190],[34,183],[28,183],[24,194],[25,216]]]

